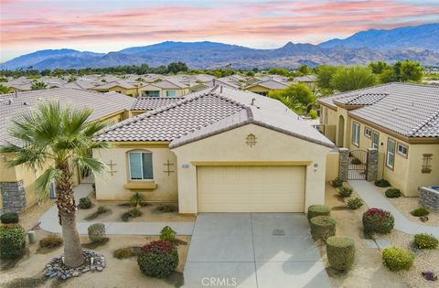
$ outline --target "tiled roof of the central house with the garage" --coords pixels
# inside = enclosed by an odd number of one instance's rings
[[[114,124],[95,138],[110,142],[168,141],[170,147],[177,147],[249,123],[327,147],[334,146],[282,102],[219,86]]]

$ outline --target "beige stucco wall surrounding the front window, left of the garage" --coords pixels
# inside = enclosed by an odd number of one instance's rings
[[[153,153],[153,175],[156,184],[155,189],[131,190],[123,187],[129,180],[128,155],[129,151],[150,151]],[[112,169],[116,173],[107,172],[105,176],[96,176],[96,197],[100,200],[128,200],[134,192],[142,192],[148,201],[177,201],[177,158],[167,146],[157,147],[151,145],[133,145],[128,147],[112,147],[110,149],[94,152],[93,155],[105,164],[112,161],[115,164]],[[171,164],[171,170],[175,171],[168,176],[166,160]],[[108,167],[110,168],[110,166]],[[143,182],[143,181],[134,181]],[[151,181],[145,181],[151,182]]]

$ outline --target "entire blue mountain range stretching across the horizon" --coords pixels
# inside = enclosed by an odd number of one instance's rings
[[[144,47],[124,48],[110,53],[49,49],[11,59],[0,69],[81,69],[148,64],[155,67],[174,61],[191,69],[294,68],[302,64],[351,65],[383,60],[412,59],[427,66],[439,66],[439,24],[370,29],[346,39],[313,44],[288,42],[281,48],[257,49],[216,42],[166,41]],[[231,65],[230,65],[231,64]]]

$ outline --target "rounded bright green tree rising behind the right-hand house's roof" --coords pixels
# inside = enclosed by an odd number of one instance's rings
[[[377,77],[371,69],[361,66],[343,67],[337,69],[332,77],[331,87],[337,91],[351,91],[373,86]]]

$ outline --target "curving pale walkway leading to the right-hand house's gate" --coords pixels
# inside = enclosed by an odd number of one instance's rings
[[[412,222],[412,220],[405,218],[404,215],[395,208],[391,202],[380,191],[365,180],[349,180],[349,185],[359,194],[359,196],[366,202],[369,208],[382,208],[391,212],[395,218],[395,229],[407,234],[428,233],[439,238],[439,227],[425,226],[423,224]]]

